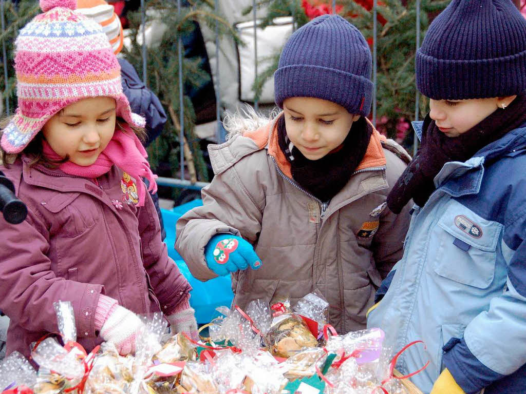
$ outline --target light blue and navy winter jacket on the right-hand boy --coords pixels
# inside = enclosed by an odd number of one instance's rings
[[[425,393],[446,367],[467,393],[526,392],[526,125],[434,182],[368,327],[395,351],[426,343],[397,364],[408,373],[430,360],[411,379]]]

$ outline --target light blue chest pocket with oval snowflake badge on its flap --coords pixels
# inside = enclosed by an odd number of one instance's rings
[[[502,224],[485,220],[451,199],[438,226],[434,272],[464,285],[487,288],[495,274]]]

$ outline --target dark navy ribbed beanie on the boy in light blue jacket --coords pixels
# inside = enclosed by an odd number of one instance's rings
[[[511,0],[453,0],[416,57],[417,88],[435,100],[504,97],[526,89],[526,20]]]

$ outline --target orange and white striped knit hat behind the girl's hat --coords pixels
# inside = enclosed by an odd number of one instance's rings
[[[120,19],[115,14],[113,5],[104,0],[77,0],[77,14],[82,14],[102,26],[103,32],[112,44],[113,53],[117,55],[123,49],[124,35]]]

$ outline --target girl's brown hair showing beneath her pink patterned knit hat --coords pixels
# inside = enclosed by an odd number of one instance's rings
[[[8,117],[0,121],[0,138],[2,137],[2,134],[4,132],[5,127],[9,124],[9,122],[13,119],[13,117]],[[144,142],[146,140],[146,131],[145,129],[133,127],[128,125],[126,121],[122,118],[117,118],[115,121],[115,130],[117,128],[119,130],[125,131],[125,127],[129,127],[131,130],[134,131],[135,135],[139,138],[141,142]],[[65,163],[69,160],[69,157],[65,157],[62,160],[52,160],[46,157],[43,151],[42,147],[42,141],[44,140],[44,134],[42,132],[38,132],[31,140],[27,146],[22,151],[25,153],[28,157],[32,158],[31,163],[29,164],[31,167],[37,164],[42,164],[47,168],[57,168],[58,165]],[[12,164],[17,154],[7,153],[4,151],[2,147],[0,147],[0,165],[4,165],[5,167],[8,167],[9,164]]]

